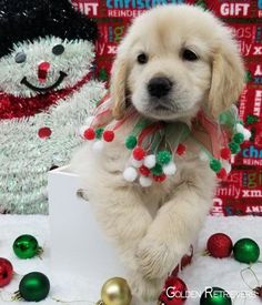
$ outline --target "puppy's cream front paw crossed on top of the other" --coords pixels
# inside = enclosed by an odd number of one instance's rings
[[[137,251],[139,271],[150,279],[165,277],[178,265],[182,255],[174,245],[145,236]]]

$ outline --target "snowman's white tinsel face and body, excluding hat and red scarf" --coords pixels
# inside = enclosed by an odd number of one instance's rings
[[[64,52],[60,61],[50,54],[53,44],[58,43],[63,43],[66,50],[68,48],[68,54]],[[41,49],[40,44],[44,48]],[[41,61],[50,61],[53,69],[50,69],[46,83],[39,82],[34,72],[39,64],[34,53],[39,53],[39,48]],[[9,67],[13,64],[11,60],[18,52],[27,53],[28,60],[31,60],[24,62],[21,73],[12,72]],[[27,75],[36,87],[49,87],[60,70],[66,71],[68,78],[57,89],[67,89],[89,73],[92,60],[93,47],[89,41],[77,41],[73,44],[48,38],[48,42],[42,39],[31,44],[26,42],[17,45],[11,55],[0,60],[0,89],[17,96],[36,96],[39,92],[21,85],[20,80]],[[19,68],[21,65],[17,70]],[[10,85],[8,82],[11,82]],[[68,163],[73,150],[82,142],[78,135],[79,126],[92,114],[103,94],[103,83],[90,80],[44,112],[0,121],[0,209],[12,213],[48,213],[47,172],[54,165]],[[41,139],[38,132],[44,126],[51,130],[51,135]]]

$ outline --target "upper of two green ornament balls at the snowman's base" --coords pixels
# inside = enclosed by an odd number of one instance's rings
[[[29,234],[19,236],[12,245],[14,254],[22,260],[32,258],[40,255],[42,248],[39,246],[36,237]]]

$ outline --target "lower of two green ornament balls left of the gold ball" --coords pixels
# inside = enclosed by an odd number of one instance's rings
[[[44,299],[50,291],[48,277],[40,272],[31,272],[23,276],[19,284],[19,296],[28,302]]]

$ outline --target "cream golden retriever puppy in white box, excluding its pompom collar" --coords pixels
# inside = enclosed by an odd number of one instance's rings
[[[119,45],[110,89],[113,114],[123,118],[132,104],[143,116],[190,125],[204,108],[215,120],[238,100],[243,75],[236,42],[212,13],[184,4],[158,7],[137,18]],[[124,138],[132,128],[129,122],[119,129],[100,154],[84,146],[72,167],[120,251],[133,294],[157,299],[198,236],[212,205],[215,174],[188,139],[189,153],[174,156],[173,177],[147,189],[124,181],[130,155]]]

